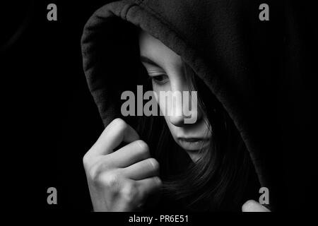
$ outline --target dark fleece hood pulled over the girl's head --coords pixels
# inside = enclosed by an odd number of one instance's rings
[[[120,93],[136,89],[136,27],[176,52],[217,97],[237,126],[270,205],[285,189],[276,171],[275,126],[282,89],[293,69],[288,56],[298,32],[292,7],[267,1],[270,20],[259,20],[262,1],[123,0],[93,13],[81,40],[83,69],[105,126],[120,116]],[[295,30],[296,29],[296,30]],[[294,59],[295,61],[297,59]],[[117,62],[117,63],[115,63]],[[118,64],[122,62],[122,64]],[[129,62],[127,64],[126,62]],[[123,80],[126,81],[123,83]],[[126,85],[124,85],[126,84]],[[133,85],[134,86],[130,86]],[[282,92],[284,93],[284,92]],[[277,126],[276,128],[281,128]],[[277,132],[278,133],[278,132]],[[273,158],[273,155],[275,156]],[[278,173],[277,173],[278,172]]]

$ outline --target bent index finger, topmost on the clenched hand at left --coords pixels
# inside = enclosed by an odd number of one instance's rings
[[[89,150],[90,155],[108,155],[122,141],[131,143],[139,139],[138,133],[122,119],[114,119]]]

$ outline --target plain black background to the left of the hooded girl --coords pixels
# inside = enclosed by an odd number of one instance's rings
[[[57,4],[57,21],[47,20],[51,3]],[[83,73],[81,34],[105,3],[1,2],[1,160],[6,163],[1,184],[13,208],[91,210],[82,157],[102,121]],[[25,29],[8,44],[21,25]],[[57,188],[58,205],[47,204],[51,186]]]

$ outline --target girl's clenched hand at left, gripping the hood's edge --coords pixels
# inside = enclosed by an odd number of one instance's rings
[[[128,143],[119,150],[114,148]],[[133,211],[158,191],[159,164],[148,145],[122,119],[114,119],[83,157],[95,211]]]

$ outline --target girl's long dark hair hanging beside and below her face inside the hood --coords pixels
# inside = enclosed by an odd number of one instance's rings
[[[163,196],[185,210],[238,210],[247,201],[244,197],[254,169],[248,151],[228,112],[205,83],[187,64],[184,73],[210,125],[210,147],[199,150],[201,157],[192,162],[173,140],[163,117],[140,117],[137,131],[160,163]],[[143,85],[152,89],[148,81]],[[252,180],[257,180],[255,175]]]

